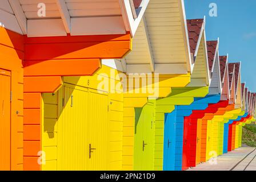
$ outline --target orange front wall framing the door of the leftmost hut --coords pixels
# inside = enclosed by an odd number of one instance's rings
[[[0,27],[0,69],[11,72],[11,170],[23,169],[23,36]],[[5,138],[0,138],[5,140]],[[1,155],[1,150],[0,150]]]

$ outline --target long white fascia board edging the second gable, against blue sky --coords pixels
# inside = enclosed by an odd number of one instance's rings
[[[183,39],[184,39],[184,43],[185,43],[187,71],[192,73],[194,64],[192,64],[192,58],[191,58],[191,54],[190,54],[189,32],[187,31],[187,19],[186,19],[185,5],[184,5],[183,0],[178,0],[178,3],[179,3],[179,14],[180,14],[181,20],[182,20],[181,23],[182,23]]]

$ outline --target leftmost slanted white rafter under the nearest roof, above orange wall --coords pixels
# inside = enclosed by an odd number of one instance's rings
[[[22,10],[21,4],[17,0],[9,0],[11,9],[13,9],[14,15],[19,23],[19,27],[24,35],[27,34],[27,18]]]

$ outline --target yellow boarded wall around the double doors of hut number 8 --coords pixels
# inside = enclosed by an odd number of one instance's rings
[[[101,73],[105,73],[101,75]],[[110,75],[114,74],[114,78]],[[107,125],[104,131],[95,131],[94,134],[100,135],[103,132],[107,133],[107,151],[103,155],[107,155],[106,167],[99,168],[105,170],[121,170],[122,169],[122,146],[123,146],[123,94],[122,86],[114,87],[114,90],[109,88],[98,88],[99,82],[109,80],[118,84],[120,78],[115,69],[103,66],[100,71],[92,77],[64,77],[64,85],[74,87],[75,89],[83,90],[84,92],[95,92],[97,89],[107,96],[106,105]],[[111,92],[112,91],[112,92]],[[118,92],[113,92],[118,91]],[[62,142],[65,142],[66,137],[63,136],[63,116],[62,116],[62,98],[63,88],[60,88],[57,93],[43,94],[43,119],[42,119],[42,150],[46,152],[46,164],[42,166],[43,170],[61,170],[62,169]],[[69,99],[70,100],[70,99]],[[94,109],[97,110],[97,105],[101,105],[103,100],[96,100]],[[98,106],[98,109],[100,108]],[[94,114],[95,115],[95,114]],[[97,114],[99,115],[99,114]],[[66,117],[66,116],[65,116]],[[95,118],[94,118],[95,119]],[[71,119],[70,119],[71,121]],[[75,122],[75,121],[72,121]],[[70,125],[71,127],[72,125]],[[102,130],[102,129],[101,129]],[[95,135],[96,136],[96,135]],[[82,155],[82,154],[81,154]],[[82,158],[81,158],[82,159]],[[64,160],[64,159],[63,159]],[[104,163],[104,162],[102,162]],[[77,169],[82,169],[77,167]],[[90,168],[89,168],[90,169]],[[95,168],[94,168],[95,169]],[[96,166],[97,169],[97,166]]]

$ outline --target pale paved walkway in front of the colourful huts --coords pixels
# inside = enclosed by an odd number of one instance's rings
[[[188,171],[256,171],[256,149],[241,147]]]

